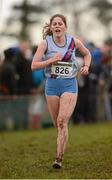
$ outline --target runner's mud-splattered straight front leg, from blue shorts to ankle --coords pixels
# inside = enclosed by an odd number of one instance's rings
[[[77,101],[77,93],[64,93],[60,97],[59,114],[57,117],[57,158],[62,159],[67,140],[68,122],[73,113]]]

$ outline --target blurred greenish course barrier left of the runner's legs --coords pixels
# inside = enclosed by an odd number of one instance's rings
[[[43,95],[0,97],[0,131],[53,126]]]

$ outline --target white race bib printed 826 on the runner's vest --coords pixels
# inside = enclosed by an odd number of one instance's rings
[[[73,64],[71,62],[58,62],[51,67],[51,74],[58,76],[69,76],[72,74]]]

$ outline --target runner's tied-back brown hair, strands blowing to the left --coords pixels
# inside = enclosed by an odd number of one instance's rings
[[[46,38],[47,35],[51,36],[52,35],[52,31],[50,30],[50,26],[52,24],[52,21],[54,20],[54,18],[56,17],[60,17],[62,19],[62,21],[64,22],[65,26],[67,27],[67,21],[66,21],[66,17],[62,14],[55,14],[51,17],[50,19],[50,23],[46,23],[45,26],[43,27],[43,39]]]

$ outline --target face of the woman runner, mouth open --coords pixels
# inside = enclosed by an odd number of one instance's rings
[[[60,17],[55,17],[51,23],[51,31],[55,37],[61,37],[66,33],[66,26]]]

